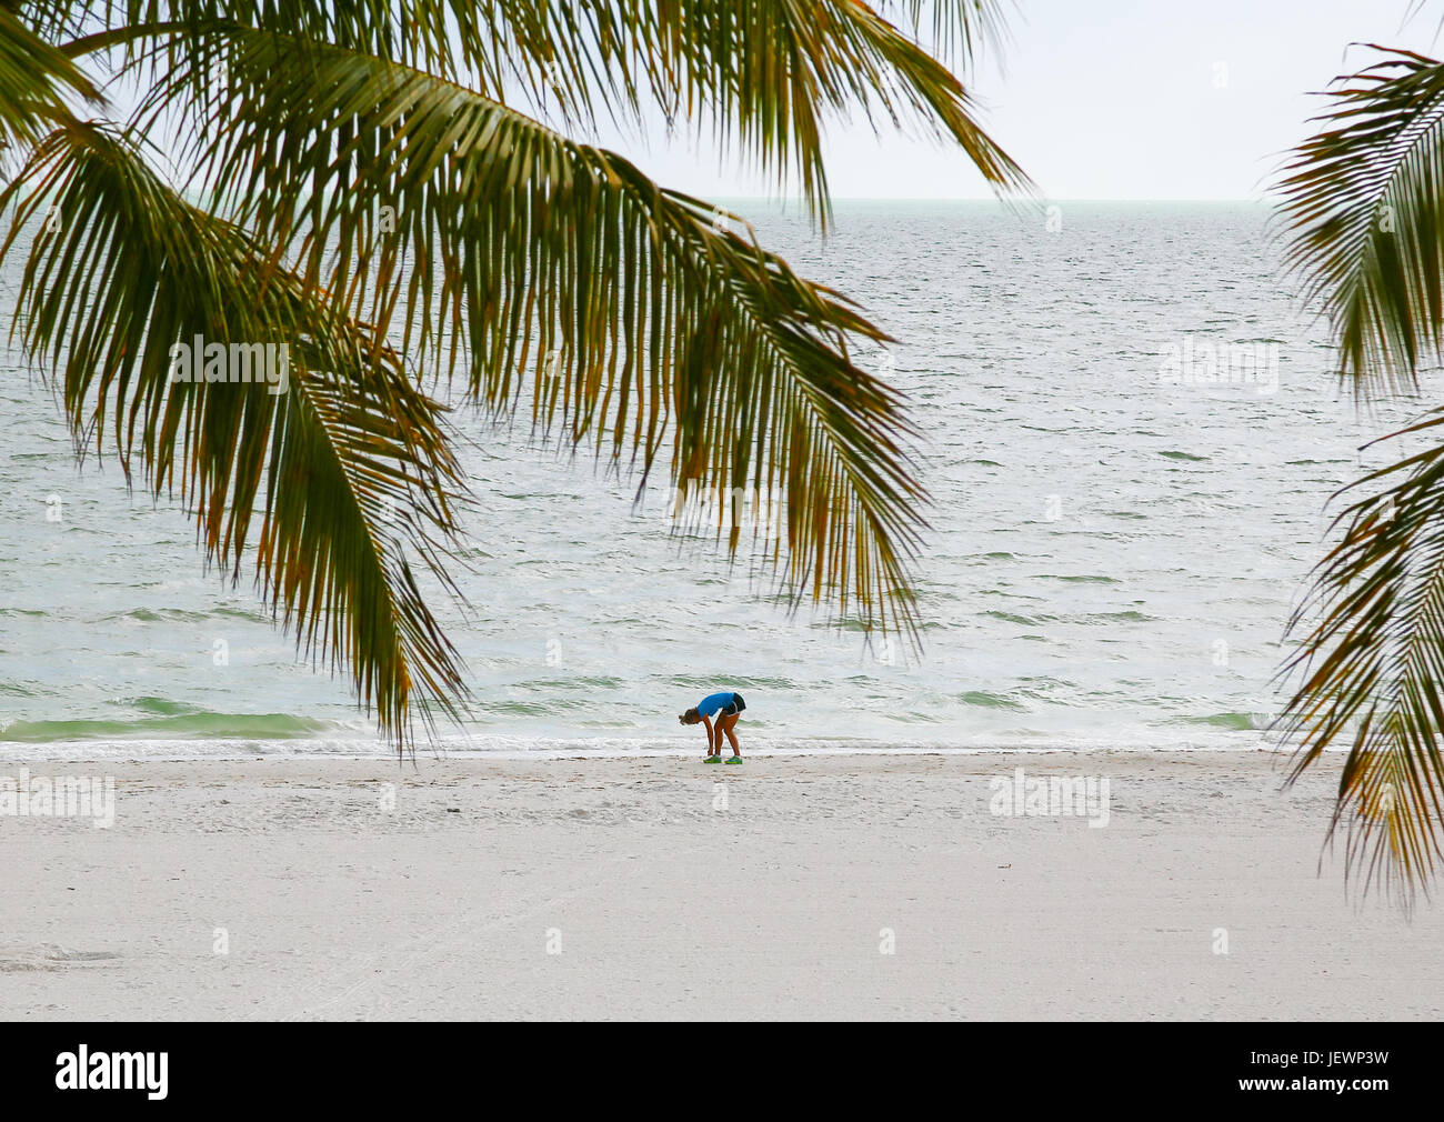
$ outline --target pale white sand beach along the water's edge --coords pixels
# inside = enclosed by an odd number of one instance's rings
[[[1108,825],[991,813],[1017,767]],[[1353,907],[1268,754],[30,771],[116,822],[0,817],[6,1018],[1444,1014],[1444,911]]]

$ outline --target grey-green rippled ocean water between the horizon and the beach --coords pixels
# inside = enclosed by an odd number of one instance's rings
[[[715,689],[747,697],[744,751],[1265,744],[1326,504],[1421,409],[1339,390],[1268,212],[839,201],[822,240],[732,205],[898,338],[869,361],[924,432],[921,656],[788,617],[745,557],[671,534],[660,488],[638,507],[464,414],[472,611],[433,606],[477,700],[435,749],[699,749],[676,713]],[[1181,377],[1209,348],[1240,380]],[[0,367],[0,757],[384,754],[247,579],[202,570],[186,514],[114,461],[78,469],[49,388],[13,349]]]

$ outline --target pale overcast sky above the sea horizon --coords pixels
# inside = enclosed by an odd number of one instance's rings
[[[1249,199],[1307,136],[1315,91],[1366,65],[1352,42],[1438,51],[1441,0],[1018,0],[1005,71],[972,88],[992,136],[1056,199]],[[709,144],[599,137],[706,198],[773,185]],[[833,198],[988,198],[957,152],[835,126]]]

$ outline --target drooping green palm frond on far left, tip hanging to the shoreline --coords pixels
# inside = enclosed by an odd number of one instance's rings
[[[42,196],[55,221],[35,234],[16,331],[59,371],[77,436],[111,445],[127,477],[139,459],[156,495],[178,490],[232,580],[254,550],[297,645],[349,666],[360,700],[409,744],[429,716],[417,702],[449,709],[466,693],[412,570],[422,559],[449,583],[438,550],[453,544],[464,487],[440,407],[384,341],[185,202],[108,127],[71,121],[36,147],[0,193],[17,208],[0,258]],[[172,348],[196,339],[245,348],[247,381],[178,381]],[[266,380],[257,345],[286,347]]]

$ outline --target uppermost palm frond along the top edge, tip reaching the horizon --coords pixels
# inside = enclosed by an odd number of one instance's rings
[[[993,0],[898,6],[914,25],[928,12],[946,43],[970,56],[1001,38]],[[856,0],[430,0],[397,9],[380,0],[309,4],[286,0],[129,0],[98,7],[104,30],[81,49],[155,39],[152,79],[195,71],[231,27],[264,29],[349,48],[469,84],[500,104],[526,91],[562,127],[602,113],[643,120],[660,105],[669,120],[710,129],[780,185],[800,181],[826,219],[825,118],[861,108],[895,126],[918,124],[969,155],[1001,191],[1028,178],[978,120],[962,82],[915,38]],[[136,55],[133,53],[133,58]]]

